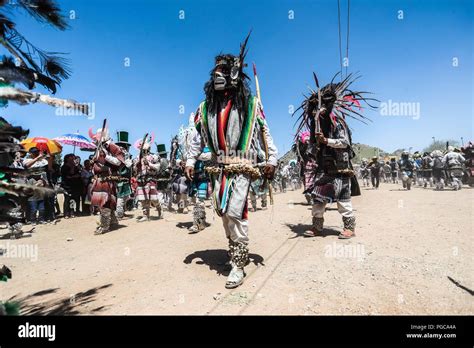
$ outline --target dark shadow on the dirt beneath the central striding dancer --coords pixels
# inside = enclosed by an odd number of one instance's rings
[[[192,254],[186,256],[183,260],[184,263],[190,264],[195,259],[197,265],[207,265],[211,271],[216,271],[217,274],[227,275],[230,271],[226,262],[229,260],[227,250],[224,249],[208,249],[208,250],[199,250],[195,251]],[[253,263],[255,266],[265,266],[263,263],[263,257],[258,254],[249,253],[249,263]]]

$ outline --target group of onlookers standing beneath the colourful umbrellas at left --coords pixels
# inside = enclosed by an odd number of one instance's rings
[[[67,154],[62,159],[60,154],[50,155],[32,147],[23,157],[21,153],[16,154],[13,167],[29,169],[26,177],[18,176],[15,182],[51,189],[34,191],[29,197],[22,199],[22,210],[27,223],[55,223],[60,216],[68,219],[94,213],[90,205],[93,177],[90,160],[81,163],[81,158],[74,154]],[[58,194],[64,196],[62,207]]]

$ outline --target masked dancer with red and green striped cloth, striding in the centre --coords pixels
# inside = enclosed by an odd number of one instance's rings
[[[273,144],[261,103],[252,96],[244,73],[245,42],[240,54],[216,57],[211,78],[205,84],[206,99],[195,116],[197,133],[193,138],[186,175],[193,178],[194,165],[205,146],[217,165],[208,166],[211,176],[214,209],[222,218],[229,241],[232,267],[226,288],[242,284],[248,263],[247,199],[252,179],[260,176],[256,168],[266,162],[263,173],[271,180],[277,164],[277,149]]]

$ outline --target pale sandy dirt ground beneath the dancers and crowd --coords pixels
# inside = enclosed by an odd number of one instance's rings
[[[304,237],[301,191],[250,213],[251,263],[234,290],[224,288],[227,242],[210,208],[198,234],[186,229],[191,213],[122,220],[101,236],[97,217],[41,225],[0,240],[0,264],[13,273],[0,300],[20,301],[22,314],[474,314],[474,190],[362,193],[352,240],[337,239],[335,206],[325,236]]]

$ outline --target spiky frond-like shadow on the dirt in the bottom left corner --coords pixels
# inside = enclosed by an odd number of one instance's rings
[[[103,289],[112,286],[112,284],[102,285],[84,292],[74,294],[73,296],[62,299],[41,301],[42,296],[56,293],[59,288],[42,290],[25,297],[13,296],[8,302],[16,302],[20,306],[21,315],[80,315],[97,314],[104,310],[106,306],[84,309],[84,305],[94,302],[95,297]]]

